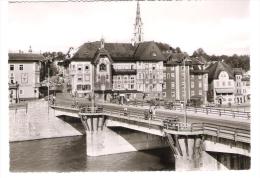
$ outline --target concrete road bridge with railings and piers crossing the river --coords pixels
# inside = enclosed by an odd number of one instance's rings
[[[125,108],[127,107],[127,111]],[[100,156],[170,146],[176,170],[250,168],[250,120],[106,104],[95,109],[52,106],[55,115],[80,119],[87,155]],[[232,126],[230,126],[232,125]]]

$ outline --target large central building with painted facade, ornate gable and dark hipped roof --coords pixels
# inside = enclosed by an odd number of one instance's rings
[[[92,92],[105,93],[147,93],[160,97],[164,56],[155,42],[83,44],[71,59],[70,75],[72,91],[86,95]],[[88,65],[88,73],[82,67]],[[85,75],[87,79],[85,80]],[[89,77],[91,76],[91,77]],[[81,85],[88,85],[83,90]]]

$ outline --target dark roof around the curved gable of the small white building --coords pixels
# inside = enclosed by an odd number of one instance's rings
[[[222,71],[227,72],[230,79],[234,79],[234,73],[232,68],[222,61],[212,63],[210,66],[206,68],[206,70],[209,72],[209,83],[214,79],[218,79],[219,73]]]

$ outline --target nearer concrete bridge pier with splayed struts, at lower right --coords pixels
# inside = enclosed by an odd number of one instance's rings
[[[219,152],[206,150],[204,136],[167,134],[168,143],[175,157],[176,171],[189,170],[241,170],[250,168],[250,158],[243,155],[223,153],[225,146],[212,142]],[[208,142],[208,141],[206,141]],[[212,149],[211,149],[212,150]]]

